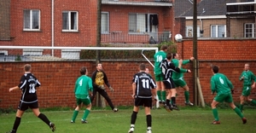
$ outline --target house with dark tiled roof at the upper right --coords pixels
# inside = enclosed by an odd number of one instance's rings
[[[254,0],[204,0],[197,5],[198,38],[255,38]],[[185,18],[183,36],[193,37],[193,3],[187,12],[176,14]],[[183,14],[182,14],[183,13]]]

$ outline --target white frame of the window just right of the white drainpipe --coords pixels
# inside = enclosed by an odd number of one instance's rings
[[[64,15],[63,14],[67,14],[67,29],[63,29],[64,26]],[[76,14],[76,18],[74,18],[74,27],[72,28],[71,26],[71,14],[75,13]],[[62,12],[62,32],[78,32],[79,31],[79,12],[78,11],[63,11]]]

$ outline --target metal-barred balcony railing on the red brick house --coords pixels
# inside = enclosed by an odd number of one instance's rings
[[[171,32],[108,32],[102,43],[161,43],[171,41]]]

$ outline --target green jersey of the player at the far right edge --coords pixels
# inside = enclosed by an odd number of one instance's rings
[[[253,74],[253,72],[251,72],[249,70],[241,72],[241,76],[239,78],[240,80],[242,80],[241,77],[244,77],[243,78],[243,85],[244,86],[251,86],[253,80],[254,80],[254,82],[256,82],[255,75]]]

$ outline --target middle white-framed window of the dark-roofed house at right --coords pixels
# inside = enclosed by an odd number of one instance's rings
[[[211,38],[225,38],[226,26],[225,25],[212,25],[211,26]]]

